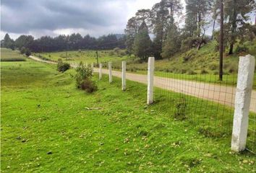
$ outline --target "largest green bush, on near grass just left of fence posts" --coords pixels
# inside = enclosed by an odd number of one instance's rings
[[[80,62],[79,66],[75,69],[77,73],[74,75],[77,88],[85,90],[86,92],[95,92],[98,87],[95,82],[92,81],[93,70],[90,66],[85,66],[84,63]]]

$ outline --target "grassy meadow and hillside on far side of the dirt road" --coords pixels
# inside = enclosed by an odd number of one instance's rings
[[[256,40],[244,43],[249,53],[256,58]],[[236,49],[237,46],[234,48]],[[127,61],[127,71],[137,74],[147,74],[148,63],[141,62],[135,56],[125,56],[125,50],[117,54],[114,50],[99,50],[99,63],[103,63],[103,68],[107,68],[108,61],[112,62],[112,68],[121,70],[121,61]],[[196,48],[178,53],[174,57],[155,61],[155,76],[162,76],[174,79],[184,79],[192,81],[206,81],[209,83],[236,86],[237,68],[239,56],[246,53],[235,53],[232,56],[224,55],[223,58],[223,81],[218,80],[218,52],[216,52],[216,42],[204,45],[200,50]],[[68,51],[57,53],[36,53],[35,56],[57,61],[59,58],[69,63],[80,61],[87,63],[97,63],[96,54],[93,50]],[[256,73],[254,79],[254,89],[256,89]]]

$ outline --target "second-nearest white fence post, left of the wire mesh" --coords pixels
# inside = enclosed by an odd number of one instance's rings
[[[154,89],[154,63],[155,58],[148,58],[148,93],[147,93],[147,104],[153,103],[153,89]]]

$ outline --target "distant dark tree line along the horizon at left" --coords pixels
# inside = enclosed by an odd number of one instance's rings
[[[57,37],[43,36],[34,39],[32,35],[20,35],[12,40],[8,33],[1,40],[2,48],[18,48],[20,50],[31,50],[38,52],[55,52],[63,50],[108,50],[114,48],[125,48],[125,35],[103,35],[95,38],[90,35],[82,37],[79,33],[72,35],[59,35]]]

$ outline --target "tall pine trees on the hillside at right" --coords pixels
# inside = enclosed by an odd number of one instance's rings
[[[142,60],[148,56],[157,59],[171,58],[175,53],[190,48],[199,50],[208,41],[216,40],[219,49],[223,45],[224,50],[233,54],[238,40],[242,43],[255,38],[256,27],[248,22],[248,14],[255,10],[255,0],[185,2],[186,6],[182,6],[179,0],[161,0],[152,9],[138,10],[135,17],[128,20],[125,29],[128,53],[134,53]],[[182,15],[184,7],[186,13]],[[184,21],[183,27],[179,26],[179,19]],[[220,30],[216,30],[216,24],[221,23],[222,34]],[[213,31],[210,36],[205,34],[209,27]],[[150,34],[153,39],[150,39]],[[223,44],[220,44],[221,40]]]

